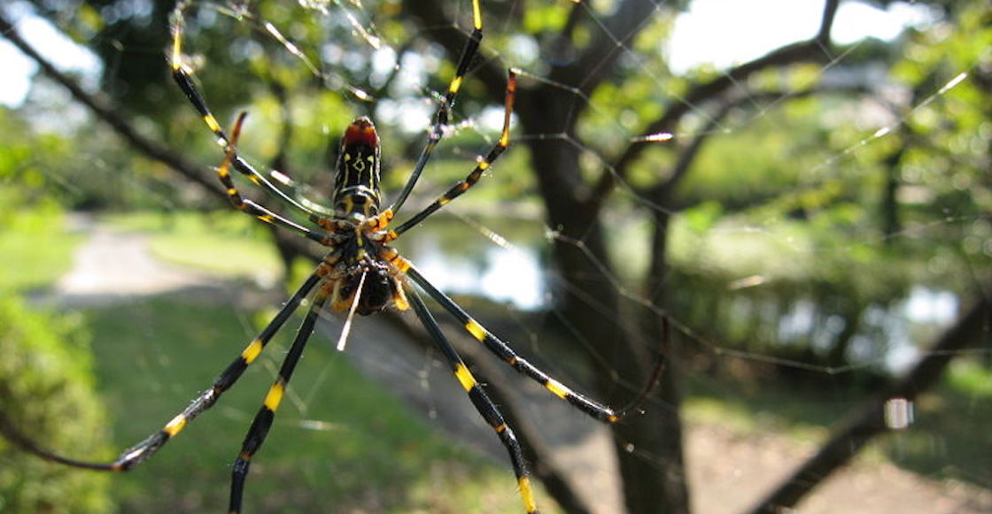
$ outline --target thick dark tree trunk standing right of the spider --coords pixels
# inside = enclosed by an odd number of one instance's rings
[[[523,132],[570,136],[571,126],[561,124],[574,119],[575,101],[574,95],[561,88],[537,86],[520,91],[517,113]],[[616,273],[607,254],[604,228],[598,211],[591,207],[590,189],[582,181],[580,149],[566,138],[531,139],[527,144],[549,227],[558,232],[554,258],[566,284],[560,309],[594,346],[591,352],[605,360],[592,362],[598,364],[594,367],[598,394],[611,405],[623,405],[649,379],[652,359],[645,349],[661,343],[661,321],[646,334],[624,316],[627,311],[621,309],[620,292],[611,281]],[[643,416],[632,416],[613,427],[624,497],[634,514],[687,512],[678,388],[671,378],[663,383],[665,408],[652,402]]]

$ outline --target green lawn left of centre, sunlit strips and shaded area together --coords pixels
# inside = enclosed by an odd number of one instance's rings
[[[264,227],[259,229],[247,216],[229,214],[129,213],[101,222],[116,230],[149,234],[157,256],[180,264],[228,276],[278,269]],[[16,227],[24,230],[0,234],[0,249],[13,256],[4,268],[6,283],[50,286],[68,269],[71,251],[82,237],[64,235],[59,213],[31,213]],[[229,306],[192,303],[179,295],[82,310],[81,326],[92,338],[97,388],[113,435],[110,448],[97,457],[113,459],[159,430],[240,353],[272,312],[272,308],[235,312]],[[226,509],[230,463],[278,360],[285,355],[287,339],[294,332],[294,322],[290,325],[237,386],[180,437],[148,463],[106,477],[103,483],[109,483],[111,502],[118,511]],[[298,367],[295,386],[252,465],[245,497],[248,510],[496,513],[522,509],[508,466],[474,456],[434,433],[391,391],[357,373],[343,355],[328,347],[312,342]],[[452,382],[452,386],[457,385]],[[301,402],[299,396],[307,400]],[[73,454],[70,445],[59,447]],[[91,476],[88,471],[63,472]],[[540,490],[539,499],[545,511],[555,512]]]

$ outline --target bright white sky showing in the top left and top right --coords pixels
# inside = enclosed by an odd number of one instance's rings
[[[749,60],[787,43],[807,39],[819,25],[821,0],[694,0],[675,27],[669,48],[670,65],[682,72],[702,62],[727,67]],[[74,45],[41,18],[8,13],[18,30],[63,71],[95,78],[100,63],[91,52]],[[889,11],[855,2],[843,2],[834,24],[834,41],[847,44],[866,37],[892,39],[906,26],[926,23],[925,8],[896,4]],[[742,23],[746,20],[746,23]],[[10,43],[0,40],[0,104],[17,107],[24,102],[38,66]]]

